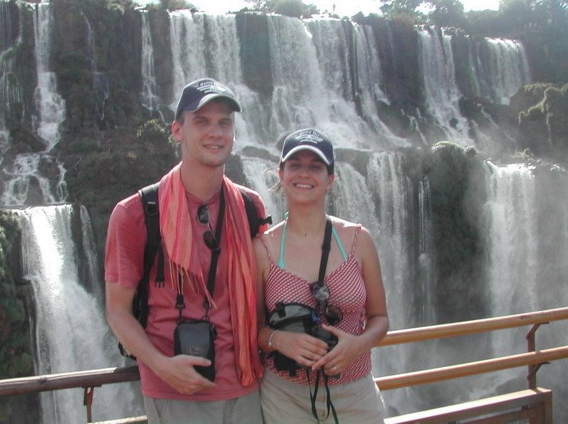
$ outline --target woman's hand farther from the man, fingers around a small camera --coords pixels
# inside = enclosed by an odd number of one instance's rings
[[[322,328],[337,336],[338,341],[332,350],[312,364],[312,370],[323,367],[328,376],[335,376],[357,361],[359,356],[368,350],[366,337],[363,335],[354,336],[337,327],[325,324],[322,324]]]

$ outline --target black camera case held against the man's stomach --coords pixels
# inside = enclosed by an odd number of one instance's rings
[[[200,356],[211,361],[210,366],[195,366],[195,371],[209,381],[215,381],[215,344],[217,331],[204,319],[187,319],[174,330],[174,354]]]

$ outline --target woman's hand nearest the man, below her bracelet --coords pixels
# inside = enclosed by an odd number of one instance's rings
[[[278,331],[273,336],[272,344],[274,350],[308,368],[327,354],[325,341],[304,333]]]

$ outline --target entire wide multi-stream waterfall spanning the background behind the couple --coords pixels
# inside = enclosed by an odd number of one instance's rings
[[[8,16],[8,4],[0,1],[0,176],[4,183],[0,204],[61,202],[66,198],[65,169],[51,152],[61,137],[66,111],[65,102],[58,94],[56,75],[49,65],[49,46],[53,36],[57,36],[53,34],[53,5],[33,6],[36,62],[30,66],[36,67],[38,85],[36,101],[32,102],[23,98],[26,90],[21,88],[14,71],[19,65],[14,62],[14,49],[22,43],[23,31],[20,28],[19,35],[14,36],[16,31],[10,25],[15,20]],[[475,144],[482,152],[514,152],[512,137],[507,137],[504,129],[498,129],[488,112],[480,112],[485,118],[483,128],[480,122],[461,115],[458,102],[466,88],[458,86],[463,83],[458,77],[461,74],[470,77],[469,85],[464,83],[468,85],[470,100],[480,97],[493,104],[508,102],[523,84],[531,82],[522,43],[466,36],[467,41],[461,45],[469,50],[460,52],[463,54],[459,57],[468,63],[457,67],[458,54],[453,49],[458,43],[453,45],[450,30],[416,27],[414,33],[410,29],[406,33],[405,28],[389,22],[372,26],[321,16],[305,21],[286,16],[256,16],[262,23],[261,31],[265,31],[261,36],[268,50],[267,57],[259,60],[263,68],[258,78],[266,78],[258,84],[263,91],[258,86],[253,88],[246,75],[246,69],[250,70],[256,62],[241,63],[243,43],[248,41],[239,39],[237,29],[242,28],[237,26],[236,16],[172,11],[164,15],[169,18],[169,34],[154,32],[152,37],[154,13],[141,9],[139,12],[142,68],[128,68],[137,62],[125,60],[120,70],[141,78],[141,90],[135,95],[140,95],[147,110],[174,110],[179,92],[196,78],[217,78],[234,90],[243,111],[236,114],[233,154],[238,157],[247,184],[264,198],[275,223],[283,218],[286,208],[282,194],[270,191],[275,183],[270,171],[280,154],[275,139],[298,127],[314,126],[324,131],[337,152],[337,179],[328,211],[362,223],[372,234],[382,263],[391,329],[439,324],[441,315],[448,317],[435,308],[441,296],[436,281],[441,271],[435,269],[436,253],[441,247],[434,245],[433,220],[445,211],[433,210],[436,181],[430,178],[431,164],[424,157],[430,144],[444,138],[464,146]],[[108,80],[98,78],[102,73],[97,68],[96,52],[105,50],[98,46],[100,41],[93,36],[88,16],[85,9],[89,71],[93,73],[96,88],[106,98],[107,83],[123,81],[111,80],[114,77],[110,71],[116,69],[111,68],[110,60]],[[405,43],[400,42],[399,36],[407,37]],[[169,45],[159,46],[160,40],[167,40]],[[415,40],[418,51],[416,58],[411,58]],[[33,40],[25,40],[25,44],[32,46]],[[401,47],[409,48],[404,56]],[[171,53],[160,55],[161,60],[172,58],[171,75],[154,69],[154,53],[159,49],[169,49],[167,53]],[[265,52],[258,53],[261,54]],[[411,63],[412,70],[405,60]],[[101,63],[105,63],[103,56]],[[420,68],[416,73],[414,64]],[[414,78],[420,71],[421,78]],[[32,140],[24,143],[17,140],[19,144],[10,139],[6,129],[10,127],[7,119],[16,116],[12,110],[16,104],[31,109],[20,111],[23,118],[18,119],[22,120],[22,126],[31,127]],[[29,115],[33,115],[31,124],[26,121]],[[109,143],[110,154],[115,154],[114,148]],[[50,178],[40,171],[46,166]],[[475,182],[485,184],[487,192],[483,225],[478,229],[486,245],[483,251],[486,260],[483,269],[476,271],[478,283],[490,287],[490,292],[485,295],[472,287],[466,293],[458,288],[452,295],[485,296],[488,314],[493,317],[565,306],[567,295],[560,288],[565,285],[568,273],[565,171],[538,169],[539,174],[526,165],[483,162],[483,166],[485,179]],[[461,169],[456,171],[459,172]],[[544,174],[552,182],[545,180]],[[557,187],[554,194],[545,193],[549,186]],[[36,372],[120,366],[122,359],[117,356],[115,341],[102,317],[100,258],[95,255],[93,229],[86,209],[81,206],[73,211],[70,206],[46,206],[19,213],[25,277],[33,285],[37,300]],[[73,213],[80,215],[82,240],[77,245],[69,228]],[[452,318],[461,320],[460,312]],[[554,329],[557,328],[554,324]],[[421,351],[422,346],[417,349],[415,345],[374,349],[374,373],[384,376],[525,351],[524,334],[519,332],[427,343],[426,355]],[[559,334],[562,331],[551,334],[546,328],[540,329],[538,345],[557,346]],[[555,399],[566,398],[565,383],[561,381],[566,379],[566,370],[553,367],[559,365],[545,366],[539,371],[539,383],[552,388]],[[389,415],[394,415],[491,396],[507,388],[525,388],[524,374],[524,369],[499,376],[492,373],[424,388],[388,391],[384,397]],[[44,422],[83,421],[82,393],[75,392],[43,394]],[[140,399],[130,398],[135,393],[137,390],[130,387],[119,392],[115,385],[97,388],[93,411],[104,414],[104,418],[132,415],[132,410],[140,408]],[[121,401],[116,402],[117,398]],[[136,402],[137,407],[130,406]],[[121,406],[126,408],[120,409]],[[555,405],[554,409],[559,416],[566,415],[565,406]]]

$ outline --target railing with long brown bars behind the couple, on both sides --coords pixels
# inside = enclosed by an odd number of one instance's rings
[[[446,381],[452,378],[461,378],[480,373],[490,373],[503,369],[528,366],[528,386],[537,387],[536,373],[542,364],[558,359],[568,358],[568,346],[558,346],[552,349],[537,351],[535,349],[535,333],[542,324],[568,319],[568,307],[549,309],[539,312],[509,315],[489,319],[478,319],[453,324],[441,324],[431,327],[419,327],[389,332],[377,346],[389,346],[416,341],[444,339],[448,337],[464,336],[482,332],[491,332],[500,329],[524,327],[532,325],[527,334],[527,353],[503,356],[500,358],[475,361],[466,364],[444,366],[436,369],[427,369],[410,373],[396,374],[375,378],[375,382],[382,391],[406,386]],[[137,366],[123,368],[96,369],[70,373],[58,373],[45,376],[30,376],[0,380],[0,396],[21,395],[24,393],[38,393],[42,391],[62,390],[65,388],[83,388],[87,420],[91,422],[91,406],[93,393],[96,387],[102,384],[122,383],[140,379]]]

